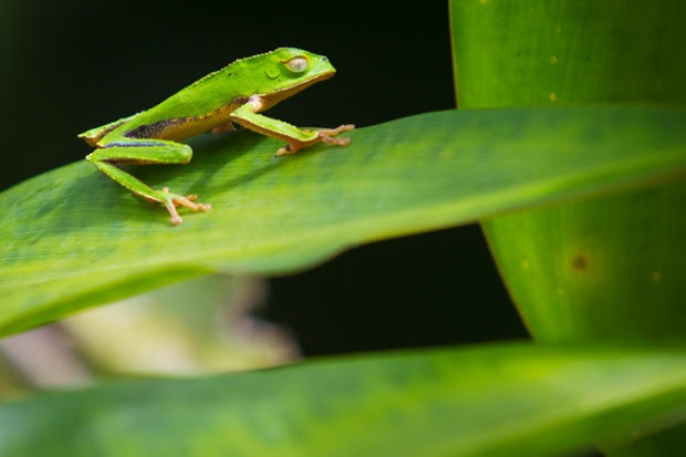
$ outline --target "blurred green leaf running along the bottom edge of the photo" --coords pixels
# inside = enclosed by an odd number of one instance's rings
[[[543,456],[685,412],[683,351],[513,343],[39,395],[0,454]]]

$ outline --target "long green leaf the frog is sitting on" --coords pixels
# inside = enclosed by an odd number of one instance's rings
[[[179,227],[85,162],[9,189],[0,333],[208,271],[292,271],[361,242],[686,170],[685,110],[443,112],[351,136],[293,157],[249,132],[205,136],[189,166],[138,167],[212,204]]]

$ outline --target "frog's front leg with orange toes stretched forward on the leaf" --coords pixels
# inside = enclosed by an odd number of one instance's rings
[[[283,121],[273,120],[271,117],[258,114],[262,108],[259,97],[251,98],[246,104],[238,107],[230,115],[231,121],[242,125],[246,128],[261,133],[262,135],[283,139],[288,146],[277,150],[277,155],[295,154],[303,147],[312,146],[316,143],[329,143],[339,146],[347,146],[350,138],[334,138],[342,132],[349,132],[355,128],[352,124],[341,125],[337,128],[324,128],[314,132],[304,131]]]

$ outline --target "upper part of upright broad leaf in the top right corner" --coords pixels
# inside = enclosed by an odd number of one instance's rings
[[[451,0],[459,106],[686,103],[680,0]]]

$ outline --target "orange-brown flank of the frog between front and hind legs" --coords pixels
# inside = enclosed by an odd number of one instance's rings
[[[229,115],[245,104],[248,97],[238,96],[228,105],[221,106],[208,114],[188,117],[172,117],[157,121],[150,124],[143,124],[124,134],[127,138],[163,138],[163,139],[184,139],[201,133],[207,133],[212,128],[230,122]]]

